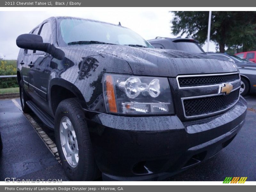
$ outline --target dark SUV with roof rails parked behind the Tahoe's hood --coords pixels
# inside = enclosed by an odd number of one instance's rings
[[[156,37],[148,42],[158,49],[173,49],[185,52],[204,53],[204,50],[195,39]]]

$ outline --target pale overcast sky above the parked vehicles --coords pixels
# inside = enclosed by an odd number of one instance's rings
[[[171,34],[172,13],[166,9],[122,9],[115,8],[84,8],[58,9],[54,11],[0,11],[0,55],[4,59],[17,59],[19,47],[16,38],[20,34],[28,33],[43,20],[52,16],[74,16],[108,23],[118,24],[132,29],[144,39],[153,39],[156,36],[176,37]],[[182,36],[185,37],[185,36]],[[206,44],[203,46],[206,51]],[[209,51],[215,52],[215,44],[210,43]]]

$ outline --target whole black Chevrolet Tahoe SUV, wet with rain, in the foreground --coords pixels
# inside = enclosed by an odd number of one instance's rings
[[[161,180],[218,153],[244,124],[233,62],[73,17],[16,44],[22,109],[54,129],[71,180]]]

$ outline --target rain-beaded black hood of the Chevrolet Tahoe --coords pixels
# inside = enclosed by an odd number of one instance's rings
[[[128,62],[134,75],[176,77],[184,74],[238,71],[233,62],[219,60],[204,53],[193,54],[177,50],[106,44],[75,45],[74,47],[122,58]]]

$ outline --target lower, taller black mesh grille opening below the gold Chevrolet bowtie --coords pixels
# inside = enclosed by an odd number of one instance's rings
[[[226,95],[184,99],[185,116],[204,116],[230,108],[238,101],[239,94],[240,89],[237,89]]]

